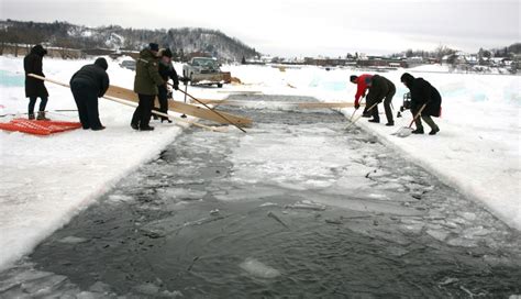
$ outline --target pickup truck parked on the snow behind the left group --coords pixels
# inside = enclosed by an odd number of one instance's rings
[[[221,71],[218,60],[208,57],[193,57],[182,66],[182,76],[188,78],[192,85],[217,85],[230,84],[232,76],[230,71]]]

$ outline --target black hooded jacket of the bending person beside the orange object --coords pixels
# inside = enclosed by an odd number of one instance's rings
[[[109,75],[107,69],[109,65],[104,58],[98,58],[91,65],[86,65],[81,67],[76,74],[70,78],[70,86],[73,81],[84,81],[85,84],[92,87],[92,90],[96,90],[98,97],[103,97],[107,89],[109,89]]]

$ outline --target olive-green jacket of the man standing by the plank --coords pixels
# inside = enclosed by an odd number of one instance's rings
[[[157,57],[145,48],[140,52],[135,67],[134,91],[141,95],[155,96],[158,93],[157,86],[165,85],[159,75]]]

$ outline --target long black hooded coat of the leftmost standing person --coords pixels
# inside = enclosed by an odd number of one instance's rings
[[[31,48],[31,52],[23,58],[23,69],[25,70],[25,97],[48,97],[47,89],[45,88],[44,81],[29,77],[27,74],[35,74],[45,77],[42,70],[43,56],[47,54],[47,51],[42,45],[35,45]]]

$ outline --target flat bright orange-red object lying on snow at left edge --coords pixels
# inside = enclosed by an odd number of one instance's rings
[[[26,119],[14,119],[7,123],[0,123],[0,130],[23,132],[34,135],[51,135],[81,128],[79,122],[63,121],[36,121]]]

